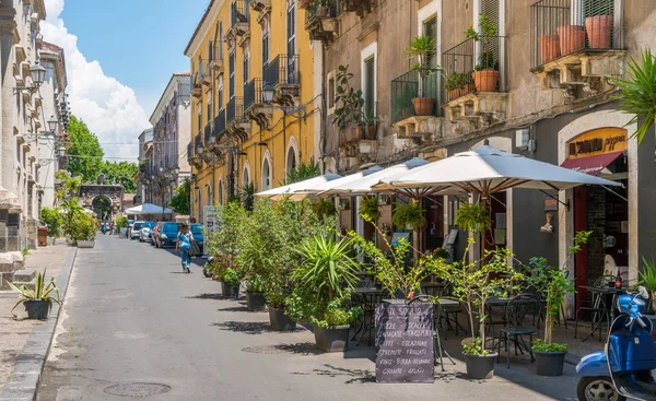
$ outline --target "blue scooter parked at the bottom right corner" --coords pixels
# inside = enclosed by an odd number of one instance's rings
[[[656,401],[656,346],[652,321],[642,315],[645,299],[644,287],[618,297],[620,315],[610,326],[606,351],[589,354],[576,365],[578,400]]]

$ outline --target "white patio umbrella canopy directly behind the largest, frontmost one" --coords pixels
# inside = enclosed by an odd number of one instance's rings
[[[383,180],[396,179],[408,174],[409,170],[425,166],[430,164],[425,160],[421,157],[413,157],[405,163],[394,165],[391,167],[387,167],[385,169],[379,169],[373,174],[365,175],[360,177],[359,179],[352,179],[348,181],[337,182],[337,185],[330,186],[330,189],[326,189],[319,192],[319,196],[325,194],[367,194],[372,193],[375,190],[372,189],[373,186],[379,184]],[[348,177],[345,177],[348,178]],[[332,184],[332,182],[331,182]]]

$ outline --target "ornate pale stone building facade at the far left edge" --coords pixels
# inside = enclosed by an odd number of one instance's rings
[[[38,141],[47,130],[43,96],[32,80],[43,40],[43,0],[0,1],[0,286],[36,247]]]

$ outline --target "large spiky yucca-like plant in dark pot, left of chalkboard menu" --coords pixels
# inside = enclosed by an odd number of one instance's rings
[[[349,325],[360,311],[348,305],[360,271],[351,248],[351,239],[337,241],[332,235],[313,236],[297,248],[301,263],[293,274],[288,314],[314,326],[316,344],[325,352],[345,351]]]

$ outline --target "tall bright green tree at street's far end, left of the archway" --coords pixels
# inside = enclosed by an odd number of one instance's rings
[[[68,170],[73,177],[82,177],[84,181],[95,180],[103,166],[103,148],[97,137],[89,130],[84,121],[71,116],[68,132],[71,144],[68,150]]]

